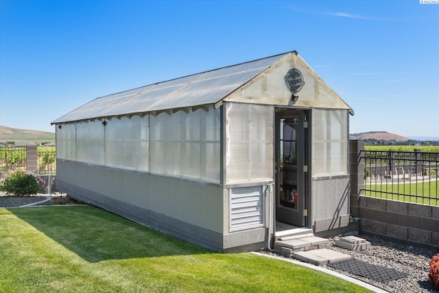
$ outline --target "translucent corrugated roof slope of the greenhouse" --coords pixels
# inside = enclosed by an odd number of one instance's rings
[[[52,124],[215,104],[290,53],[98,97]]]

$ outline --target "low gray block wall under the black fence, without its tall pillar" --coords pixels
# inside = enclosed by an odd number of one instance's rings
[[[381,198],[358,198],[359,230],[439,249],[439,207]]]

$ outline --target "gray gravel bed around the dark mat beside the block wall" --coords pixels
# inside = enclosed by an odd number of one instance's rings
[[[344,270],[337,270],[329,266],[322,266],[322,268],[327,268],[328,270],[339,272],[348,277],[353,277],[388,292],[438,293],[429,282],[428,271],[431,257],[438,254],[439,250],[434,251],[407,244],[396,244],[394,242],[384,241],[377,237],[368,237],[367,235],[358,235],[358,237],[364,238],[370,242],[371,247],[368,250],[353,251],[335,246],[333,244],[333,239],[329,239],[332,244],[331,250],[351,255],[359,261],[366,261],[367,263],[385,266],[386,268],[394,268],[400,272],[405,272],[408,276],[395,281],[390,281],[389,283],[381,283],[364,277],[359,277]],[[278,256],[282,257],[281,255]]]

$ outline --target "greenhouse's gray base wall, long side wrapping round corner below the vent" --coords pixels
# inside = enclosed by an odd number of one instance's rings
[[[228,193],[221,185],[58,160],[56,186],[73,198],[211,250],[267,247],[268,228],[233,233],[224,228]]]

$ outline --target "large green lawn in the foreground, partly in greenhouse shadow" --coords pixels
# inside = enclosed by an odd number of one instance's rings
[[[368,292],[285,261],[219,254],[95,207],[0,209],[0,292]]]

